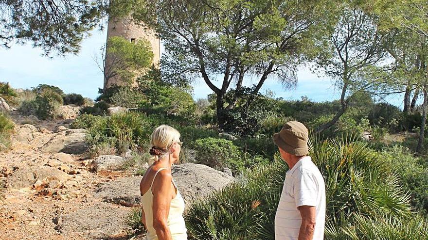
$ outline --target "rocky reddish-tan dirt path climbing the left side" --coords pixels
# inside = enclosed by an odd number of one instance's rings
[[[19,122],[18,116],[12,117]],[[54,128],[68,128],[69,122],[64,124],[64,120],[60,120],[35,123],[38,131],[33,133],[34,139],[28,144],[13,141],[9,150],[0,153],[0,171],[13,175],[15,171],[44,166],[49,164],[49,160],[56,160],[55,153],[45,153],[42,147],[58,134],[53,132]],[[17,128],[20,126],[17,124]],[[62,164],[74,170],[74,173],[68,171],[69,179],[61,182],[59,186],[49,188],[46,190],[48,192],[40,194],[39,189],[31,186],[6,189],[5,198],[0,202],[1,240],[85,239],[84,236],[61,234],[55,230],[55,221],[60,215],[98,204],[100,200],[92,196],[94,188],[114,177],[90,172],[89,166],[86,166],[83,156],[80,155],[71,155],[71,160]],[[56,194],[51,196],[52,192]]]

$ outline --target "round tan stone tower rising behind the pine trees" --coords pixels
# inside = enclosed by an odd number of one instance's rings
[[[160,62],[160,39],[156,37],[155,32],[146,30],[142,26],[134,23],[131,18],[109,19],[107,26],[107,39],[112,36],[121,36],[130,42],[137,42],[139,39],[146,39],[152,46],[154,53],[153,63],[159,66]],[[106,63],[109,64],[108,54],[106,53]],[[117,78],[104,79],[104,90],[112,84],[122,85],[123,83]]]

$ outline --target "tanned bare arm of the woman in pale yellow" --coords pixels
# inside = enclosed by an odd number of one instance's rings
[[[167,224],[169,207],[172,200],[172,176],[167,171],[160,171],[152,186],[153,192],[153,228],[159,240],[172,240]]]

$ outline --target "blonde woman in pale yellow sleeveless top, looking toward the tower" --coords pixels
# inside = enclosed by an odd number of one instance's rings
[[[181,150],[180,133],[162,125],[153,131],[150,142],[155,162],[140,183],[147,240],[187,240],[184,200],[171,176]]]

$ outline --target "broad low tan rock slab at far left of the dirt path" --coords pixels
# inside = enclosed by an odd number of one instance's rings
[[[30,187],[37,180],[54,179],[59,182],[65,182],[71,176],[51,166],[39,166],[21,168],[14,172],[8,179],[8,186],[14,189]]]

